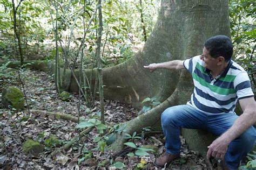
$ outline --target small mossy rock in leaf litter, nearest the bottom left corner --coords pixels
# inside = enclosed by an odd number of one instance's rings
[[[39,144],[37,141],[26,140],[22,146],[24,153],[39,154],[44,151],[44,145]]]

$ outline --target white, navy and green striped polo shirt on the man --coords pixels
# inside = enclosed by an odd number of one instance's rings
[[[187,104],[203,112],[220,114],[234,111],[238,99],[254,96],[247,72],[232,60],[215,79],[212,79],[210,70],[204,68],[200,55],[185,60],[183,65],[192,74],[194,82],[191,101]]]

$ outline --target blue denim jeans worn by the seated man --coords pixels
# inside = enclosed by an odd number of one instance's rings
[[[165,134],[166,152],[180,153],[180,128],[205,129],[217,136],[231,128],[238,118],[232,111],[227,114],[206,114],[190,105],[178,105],[167,108],[161,115],[161,125]],[[236,169],[239,163],[254,146],[255,129],[251,126],[238,138],[234,139],[225,154],[225,163],[231,169]]]

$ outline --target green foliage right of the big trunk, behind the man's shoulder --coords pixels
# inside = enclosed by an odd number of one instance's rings
[[[234,45],[234,58],[247,71],[255,92],[256,59],[256,2],[252,0],[230,1],[230,27]]]

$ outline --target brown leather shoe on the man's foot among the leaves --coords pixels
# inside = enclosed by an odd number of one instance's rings
[[[179,154],[165,153],[164,155],[161,155],[157,158],[157,160],[154,162],[154,165],[160,168],[168,167],[171,164],[171,161],[177,158],[179,158]]]

